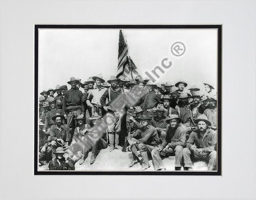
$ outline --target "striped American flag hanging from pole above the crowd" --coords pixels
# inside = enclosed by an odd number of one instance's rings
[[[135,78],[140,76],[136,70],[136,65],[133,63],[129,55],[129,48],[124,37],[123,31],[119,31],[119,56],[118,56],[118,66],[117,66],[117,78],[123,75],[123,77]],[[131,73],[132,72],[132,73]],[[133,74],[133,77],[132,77]]]

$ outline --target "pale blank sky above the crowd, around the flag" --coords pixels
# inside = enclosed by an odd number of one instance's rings
[[[214,29],[124,29],[130,57],[137,71],[146,77],[168,58],[172,66],[161,67],[158,83],[178,80],[204,90],[203,83],[217,85],[217,31]],[[185,53],[171,53],[174,42],[183,42]],[[117,74],[119,29],[40,29],[39,93],[56,84],[70,85],[71,77],[88,77],[98,73],[104,80]],[[152,74],[152,73],[151,73]]]

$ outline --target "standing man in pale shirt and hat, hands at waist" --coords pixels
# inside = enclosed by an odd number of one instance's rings
[[[105,80],[101,74],[92,77],[92,79],[95,81],[96,87],[89,91],[86,103],[92,114],[97,113],[98,116],[103,116],[103,107],[101,106],[100,99],[107,90],[107,88],[101,85]]]

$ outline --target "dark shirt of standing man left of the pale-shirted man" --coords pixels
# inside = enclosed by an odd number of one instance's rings
[[[85,107],[82,104],[83,93],[81,90],[73,89],[66,91],[62,109],[65,110],[69,106],[82,106],[82,114],[85,114]]]

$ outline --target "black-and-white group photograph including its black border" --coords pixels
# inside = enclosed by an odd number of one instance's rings
[[[222,25],[35,25],[35,175],[221,175]]]

